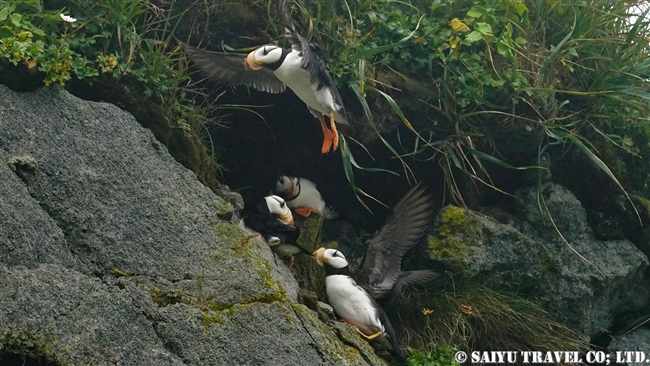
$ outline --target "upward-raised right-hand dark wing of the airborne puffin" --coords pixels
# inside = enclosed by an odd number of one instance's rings
[[[296,30],[296,25],[291,18],[291,7],[287,3],[287,0],[280,0],[278,2],[278,16],[280,17],[280,22],[285,27],[285,36],[291,44],[291,49],[300,52],[302,56],[302,68],[309,72],[311,85],[316,90],[324,87],[330,88],[335,93],[337,102],[343,106],[341,96],[336,89],[336,85],[334,85],[334,80],[332,80],[332,77],[327,72],[325,62],[320,58],[316,50],[314,50],[314,46]]]

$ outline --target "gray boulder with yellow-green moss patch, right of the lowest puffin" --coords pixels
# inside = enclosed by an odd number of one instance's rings
[[[517,194],[521,231],[457,207],[443,209],[428,239],[430,256],[455,272],[529,289],[590,339],[617,314],[648,304],[648,258],[627,240],[595,239],[580,202],[563,187],[546,184],[543,194],[568,243],[539,212],[532,187]]]

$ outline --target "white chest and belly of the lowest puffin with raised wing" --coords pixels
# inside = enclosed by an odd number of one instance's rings
[[[367,335],[385,331],[370,295],[350,276],[327,276],[325,287],[329,303],[338,316]]]

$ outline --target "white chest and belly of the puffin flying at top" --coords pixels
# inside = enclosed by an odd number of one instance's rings
[[[336,110],[334,98],[329,89],[315,90],[311,86],[309,72],[302,68],[302,57],[297,51],[291,51],[275,71],[275,76],[307,104],[308,107],[322,114]]]

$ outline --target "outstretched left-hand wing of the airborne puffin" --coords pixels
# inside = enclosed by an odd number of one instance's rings
[[[256,71],[245,70],[245,54],[210,52],[181,44],[185,54],[210,80],[231,86],[246,85],[272,94],[282,93],[287,88],[270,69],[263,67]]]

